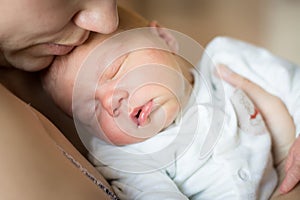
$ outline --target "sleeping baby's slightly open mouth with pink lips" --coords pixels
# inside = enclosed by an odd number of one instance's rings
[[[135,108],[130,114],[131,119],[137,126],[143,126],[147,123],[148,117],[152,111],[153,101],[148,101],[145,105]]]

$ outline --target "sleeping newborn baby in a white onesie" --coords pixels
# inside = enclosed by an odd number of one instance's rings
[[[195,52],[193,68],[174,40],[161,28],[91,35],[54,61],[44,87],[74,117],[120,199],[268,199],[277,184],[270,135],[251,101],[215,76],[214,63],[281,97],[297,119],[299,70],[229,38]]]

